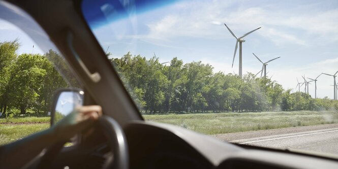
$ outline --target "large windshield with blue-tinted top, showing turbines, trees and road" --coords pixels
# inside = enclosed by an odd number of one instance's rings
[[[146,120],[338,154],[338,2],[83,1]]]

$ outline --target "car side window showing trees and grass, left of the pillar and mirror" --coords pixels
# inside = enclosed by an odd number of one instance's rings
[[[81,85],[54,46],[40,47],[25,33],[27,27],[1,18],[0,25],[0,145],[4,145],[49,128],[53,93]]]

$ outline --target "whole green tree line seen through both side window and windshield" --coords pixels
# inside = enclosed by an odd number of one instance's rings
[[[53,50],[45,54],[18,55],[18,40],[0,42],[0,112],[46,115],[55,90],[81,87],[63,57]],[[107,54],[107,57],[109,54]],[[256,112],[338,110],[332,99],[304,92],[292,93],[269,78],[254,74],[213,73],[201,61],[183,63],[174,57],[169,65],[156,57],[146,59],[129,52],[110,58],[121,80],[143,113]]]

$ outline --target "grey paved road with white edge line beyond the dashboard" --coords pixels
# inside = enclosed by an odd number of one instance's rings
[[[306,127],[305,127],[306,128]],[[317,130],[310,130],[310,129]],[[299,128],[285,128],[274,129],[272,132],[268,131],[250,131],[237,133],[237,135],[247,136],[245,139],[240,139],[240,136],[234,137],[237,140],[228,140],[232,143],[247,144],[260,147],[282,148],[282,149],[299,149],[315,152],[325,152],[331,154],[338,154],[338,127],[336,125],[323,126],[307,126],[306,129]],[[299,132],[300,130],[300,132]],[[305,131],[301,131],[305,130]],[[307,131],[308,130],[308,131]],[[309,131],[310,130],[310,131]],[[290,132],[293,131],[293,132]],[[250,134],[248,134],[250,133]],[[267,134],[270,133],[270,134]],[[273,134],[278,133],[278,134]],[[236,134],[236,133],[232,133]],[[231,136],[229,134],[228,136]],[[256,136],[256,137],[252,137]],[[222,138],[221,134],[215,136]],[[223,138],[226,136],[223,136]]]

